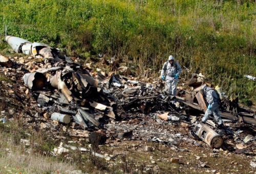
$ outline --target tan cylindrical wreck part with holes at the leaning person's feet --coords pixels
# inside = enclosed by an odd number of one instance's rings
[[[202,139],[206,144],[211,147],[220,148],[224,140],[222,136],[217,134],[214,130],[212,130],[209,126],[203,123],[196,123],[194,127],[194,131],[190,132],[191,135],[196,135],[200,139]],[[197,139],[195,137],[195,139]]]

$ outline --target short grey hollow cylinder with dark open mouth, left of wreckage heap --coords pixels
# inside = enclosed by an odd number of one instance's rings
[[[23,76],[24,83],[29,89],[42,89],[47,81],[46,76],[42,73],[27,73]]]

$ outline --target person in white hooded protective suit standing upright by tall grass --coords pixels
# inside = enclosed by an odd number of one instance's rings
[[[164,74],[166,72],[166,78]],[[163,69],[161,71],[161,78],[166,79],[166,84],[169,88],[168,92],[170,95],[176,96],[176,86],[178,83],[178,77],[181,74],[182,69],[180,64],[174,60],[172,55],[169,56],[168,61],[163,64]]]

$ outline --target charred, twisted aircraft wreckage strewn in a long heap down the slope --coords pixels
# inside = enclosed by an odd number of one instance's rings
[[[196,122],[196,117],[206,111],[206,100],[200,89],[204,81],[202,75],[194,74],[187,85],[191,91],[178,90],[177,96],[168,95],[165,83],[157,81],[154,84],[130,80],[119,74],[90,72],[90,66],[83,69],[81,63],[73,61],[65,53],[47,44],[29,42],[25,39],[6,36],[6,41],[16,53],[44,58],[52,64],[49,69],[37,69],[27,73],[23,80],[37,99],[38,106],[47,107],[52,120],[68,124],[71,119],[83,128],[102,128],[103,117],[125,120],[130,113],[138,109],[143,114],[158,113],[160,118],[171,121],[193,124],[194,130],[190,137],[202,139],[209,146],[219,148],[223,145],[221,130],[212,130],[214,122],[208,120],[206,124]],[[3,59],[3,60],[2,60]],[[1,59],[1,66],[11,67],[8,58]],[[113,61],[113,60],[112,60]],[[124,68],[127,70],[127,67]],[[129,69],[129,68],[128,68]],[[57,89],[57,90],[55,90]],[[222,95],[222,93],[220,93]],[[253,111],[239,107],[238,98],[222,98],[220,115],[225,122],[243,121],[256,125]],[[166,119],[165,119],[166,120]],[[236,134],[230,129],[226,134]],[[131,137],[133,132],[116,133],[113,137]],[[157,138],[155,140],[161,141]]]

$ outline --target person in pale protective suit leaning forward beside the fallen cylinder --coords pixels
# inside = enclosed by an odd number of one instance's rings
[[[204,117],[202,118],[202,122],[206,123],[210,115],[213,114],[218,123],[218,127],[224,128],[225,126],[223,124],[223,120],[219,114],[220,105],[218,104],[218,96],[216,91],[210,88],[207,84],[202,85],[201,90],[204,93],[208,103],[207,110],[205,111]]]

